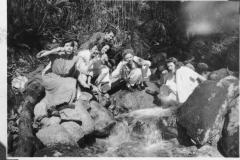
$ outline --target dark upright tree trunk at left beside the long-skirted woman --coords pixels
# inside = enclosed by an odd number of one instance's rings
[[[39,70],[39,68],[36,70]],[[36,72],[36,70],[33,72]],[[29,82],[24,94],[23,109],[20,113],[19,142],[14,153],[15,157],[31,157],[37,149],[43,146],[42,142],[34,135],[32,127],[34,106],[43,94],[44,87],[40,82],[37,80]]]

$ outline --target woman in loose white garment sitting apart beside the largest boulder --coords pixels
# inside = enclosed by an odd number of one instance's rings
[[[168,71],[163,71],[165,73],[163,77],[164,84],[160,87],[159,91],[163,108],[168,107],[169,103],[175,105],[184,103],[199,85],[197,79],[200,82],[206,80],[192,69],[179,65],[177,59],[174,57],[166,60],[166,66]],[[157,91],[146,90],[146,92],[152,95],[159,94]]]

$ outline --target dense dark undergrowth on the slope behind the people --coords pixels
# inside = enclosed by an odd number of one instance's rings
[[[140,57],[166,53],[239,70],[239,2],[8,0],[7,14],[8,106],[21,103],[12,79],[46,64],[36,54],[53,39],[72,33],[81,44],[109,26],[118,30],[117,44]]]

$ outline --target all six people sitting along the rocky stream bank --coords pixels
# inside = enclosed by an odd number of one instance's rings
[[[115,35],[114,30],[97,32],[80,47],[78,40],[68,35],[62,40],[60,47],[39,52],[38,58],[49,56],[50,59],[42,73],[46,96],[40,103],[48,108],[71,104],[76,98],[78,84],[92,93],[96,92],[96,88],[98,92],[102,92],[102,85],[109,85],[110,90],[114,79],[124,80],[131,92],[135,88],[143,90],[143,82],[151,75],[151,62],[135,56],[132,49],[125,49],[122,52],[122,61],[116,64],[114,59],[109,58]],[[162,94],[162,100],[171,99],[181,104],[198,86],[197,79],[205,80],[195,71],[184,66],[179,67],[173,57],[166,60],[166,67],[168,71],[164,71],[166,74],[163,73],[161,77],[163,84],[160,90],[146,90],[152,95]]]

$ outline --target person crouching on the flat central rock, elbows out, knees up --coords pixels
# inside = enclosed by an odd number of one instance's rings
[[[122,54],[123,60],[118,64],[117,68],[112,72],[112,77],[121,77],[127,83],[129,91],[134,92],[132,88],[136,85],[138,90],[143,88],[143,80],[151,75],[149,66],[151,62],[140,57],[134,56],[132,49],[124,50]]]

